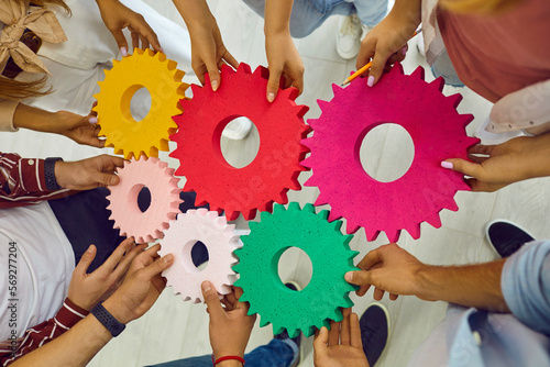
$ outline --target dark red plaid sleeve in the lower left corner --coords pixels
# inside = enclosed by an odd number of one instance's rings
[[[66,298],[62,309],[53,319],[29,329],[23,337],[18,340],[20,343],[14,352],[4,347],[0,348],[0,366],[8,366],[15,359],[53,341],[73,327],[78,321],[86,318],[88,313],[88,311],[79,308]],[[1,344],[10,345],[10,342],[8,341]]]

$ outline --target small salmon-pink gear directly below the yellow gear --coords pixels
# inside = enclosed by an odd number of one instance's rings
[[[163,237],[168,222],[179,212],[182,191],[177,187],[178,178],[174,169],[158,158],[142,156],[124,163],[119,171],[120,182],[110,186],[107,207],[112,213],[114,227],[121,236],[133,236],[136,243],[153,242]],[[138,196],[146,187],[151,192],[151,204],[145,212],[138,207]]]

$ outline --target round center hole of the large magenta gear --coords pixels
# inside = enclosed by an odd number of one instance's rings
[[[383,122],[360,137],[359,156],[363,170],[380,182],[398,180],[415,159],[415,143],[402,125]]]

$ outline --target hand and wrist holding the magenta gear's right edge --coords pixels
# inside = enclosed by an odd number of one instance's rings
[[[468,153],[473,163],[452,158],[441,166],[471,176],[466,182],[473,191],[496,191],[517,181],[550,176],[550,133],[499,145],[474,145]]]

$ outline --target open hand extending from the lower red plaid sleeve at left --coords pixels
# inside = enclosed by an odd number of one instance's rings
[[[73,271],[68,298],[78,307],[89,311],[99,301],[112,294],[124,279],[132,260],[143,252],[145,245],[135,246],[133,238],[124,240],[109,258],[94,273],[87,274],[88,267],[97,254],[94,245],[84,253]]]

